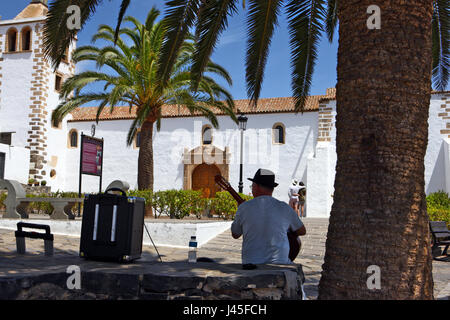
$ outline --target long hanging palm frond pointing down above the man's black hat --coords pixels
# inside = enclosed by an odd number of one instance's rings
[[[281,6],[281,0],[249,1],[246,83],[247,95],[255,106],[261,92],[269,47]]]

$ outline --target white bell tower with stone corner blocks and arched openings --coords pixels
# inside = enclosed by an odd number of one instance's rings
[[[76,43],[55,71],[43,49],[47,13],[47,0],[32,0],[14,19],[0,20],[0,131],[15,132],[11,144],[30,150],[29,178],[51,182],[50,171],[64,162],[53,146],[66,141],[66,123],[52,127],[51,113],[62,83],[75,73]]]

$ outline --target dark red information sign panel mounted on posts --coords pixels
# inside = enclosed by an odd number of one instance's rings
[[[102,175],[103,141],[82,136],[81,173]]]

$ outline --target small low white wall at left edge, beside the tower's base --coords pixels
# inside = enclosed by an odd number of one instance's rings
[[[0,153],[5,153],[5,179],[28,183],[30,150],[0,144]]]

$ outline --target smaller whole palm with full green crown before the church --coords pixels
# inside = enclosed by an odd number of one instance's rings
[[[156,78],[158,53],[164,37],[164,26],[155,22],[159,11],[152,9],[145,24],[133,17],[133,28],[119,30],[117,46],[114,46],[114,29],[101,25],[93,41],[102,39],[111,45],[102,48],[96,46],[80,47],[74,52],[75,62],[93,61],[98,69],[109,67],[108,73],[86,71],[67,79],[61,90],[62,103],[54,110],[52,121],[59,123],[75,108],[86,103],[99,101],[97,121],[105,107],[111,112],[115,106],[126,105],[130,112],[135,108],[136,118],[128,132],[127,144],[131,145],[140,129],[140,148],[138,161],[139,189],[153,189],[153,127],[161,127],[162,107],[178,108],[183,106],[191,113],[205,116],[214,127],[218,121],[213,110],[221,110],[236,123],[233,112],[234,102],[231,95],[211,77],[204,76],[195,92],[191,87],[191,64],[194,44],[183,41],[182,49],[174,61],[170,79],[166,83]],[[126,36],[131,45],[122,38]],[[128,41],[130,42],[130,41]],[[220,65],[208,62],[209,73],[224,78],[231,85],[231,78]],[[85,93],[83,89],[92,83],[104,83],[104,91]],[[74,94],[73,94],[74,93]]]

